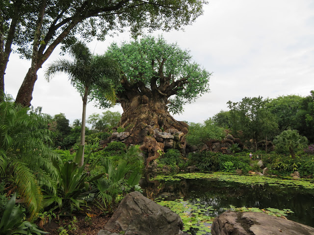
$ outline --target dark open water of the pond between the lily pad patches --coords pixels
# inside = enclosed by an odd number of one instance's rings
[[[192,204],[201,203],[212,206],[210,216],[217,216],[224,208],[256,207],[260,209],[290,209],[294,213],[286,217],[295,222],[314,227],[314,190],[263,185],[243,185],[234,182],[216,180],[183,179],[165,183],[145,181],[142,188],[150,193],[151,198],[161,197],[165,200],[184,198]]]

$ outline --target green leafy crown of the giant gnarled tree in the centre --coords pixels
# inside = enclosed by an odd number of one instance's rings
[[[167,44],[161,36],[112,44],[107,54],[120,63],[124,73],[118,101],[129,99],[131,94],[145,94],[163,100],[176,114],[183,111],[183,104],[209,92],[211,73],[193,62],[189,51]]]

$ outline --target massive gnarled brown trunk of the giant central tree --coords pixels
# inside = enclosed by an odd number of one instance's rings
[[[124,92],[124,98],[119,98],[123,108],[120,126],[130,132],[130,137],[125,140],[127,145],[139,144],[141,150],[148,155],[146,167],[157,159],[164,149],[177,148],[185,150],[188,125],[183,121],[175,120],[168,112],[166,102],[162,97],[143,95],[140,92]],[[119,97],[119,94],[118,94]],[[177,139],[167,140],[160,138],[160,133],[169,135],[176,133]],[[159,135],[159,136],[157,136]],[[168,141],[168,142],[167,142]],[[170,147],[169,147],[169,141]]]

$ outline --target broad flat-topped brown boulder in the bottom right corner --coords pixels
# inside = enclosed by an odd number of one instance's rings
[[[212,235],[313,235],[314,228],[261,212],[220,214],[211,225]]]

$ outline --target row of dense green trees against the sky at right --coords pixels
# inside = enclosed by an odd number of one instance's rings
[[[296,130],[314,142],[314,91],[305,97],[284,95],[274,99],[244,97],[229,101],[228,111],[220,111],[211,120],[218,127],[230,129],[232,134],[257,147],[261,140],[274,140],[285,130]]]

